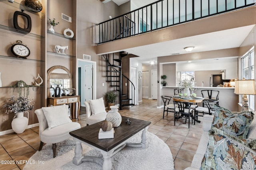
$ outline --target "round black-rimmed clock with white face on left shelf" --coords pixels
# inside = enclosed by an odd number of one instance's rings
[[[16,43],[12,45],[11,51],[18,58],[21,57],[26,59],[26,57],[30,55],[30,50],[26,45],[23,45],[20,40],[16,41]]]

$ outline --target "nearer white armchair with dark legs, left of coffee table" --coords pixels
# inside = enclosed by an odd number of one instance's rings
[[[77,122],[68,117],[68,105],[42,107],[35,110],[39,121],[39,138],[42,150],[44,143],[52,144],[53,157],[56,156],[56,143],[72,137],[69,132],[80,129]]]

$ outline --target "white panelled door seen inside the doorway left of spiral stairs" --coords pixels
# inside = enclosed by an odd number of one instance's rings
[[[92,99],[92,64],[85,66],[85,101]]]

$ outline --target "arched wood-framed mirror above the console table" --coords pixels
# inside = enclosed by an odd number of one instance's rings
[[[64,66],[52,66],[47,71],[47,96],[60,97],[74,95],[72,74]],[[55,92],[57,89],[57,93]],[[57,94],[57,95],[56,95]]]

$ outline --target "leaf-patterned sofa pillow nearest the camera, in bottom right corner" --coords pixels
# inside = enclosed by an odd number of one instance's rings
[[[200,169],[254,170],[256,152],[246,145],[220,133],[208,133],[209,143]]]

